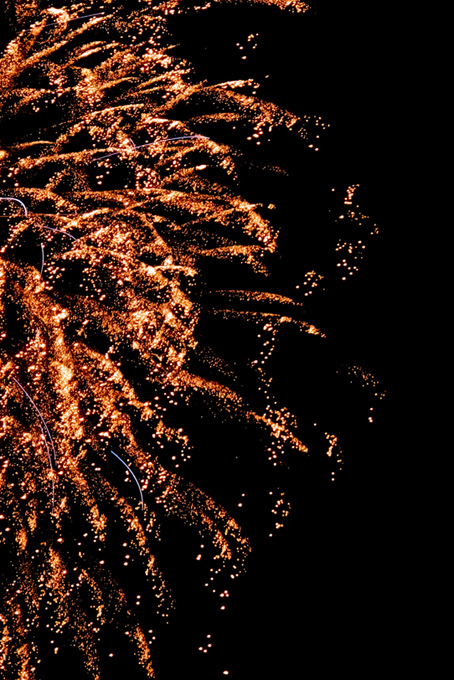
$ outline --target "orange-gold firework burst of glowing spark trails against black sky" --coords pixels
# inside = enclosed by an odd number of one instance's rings
[[[178,2],[50,5],[9,7],[17,31],[0,64],[0,667],[39,680],[44,637],[56,654],[64,637],[101,678],[115,628],[151,678],[152,636],[123,567],[143,573],[165,619],[164,518],[195,528],[216,573],[235,577],[249,551],[233,516],[179,474],[197,448],[191,419],[252,428],[270,468],[306,452],[266,362],[284,324],[323,338],[288,296],[213,292],[214,317],[258,334],[255,396],[198,343],[204,263],[263,273],[276,250],[265,211],[236,190],[242,155],[217,130],[285,129],[313,146],[322,123],[260,101],[252,81],[194,81],[169,49]],[[322,278],[309,272],[305,294]],[[340,465],[336,435],[325,438]],[[288,508],[276,498],[277,529]]]

